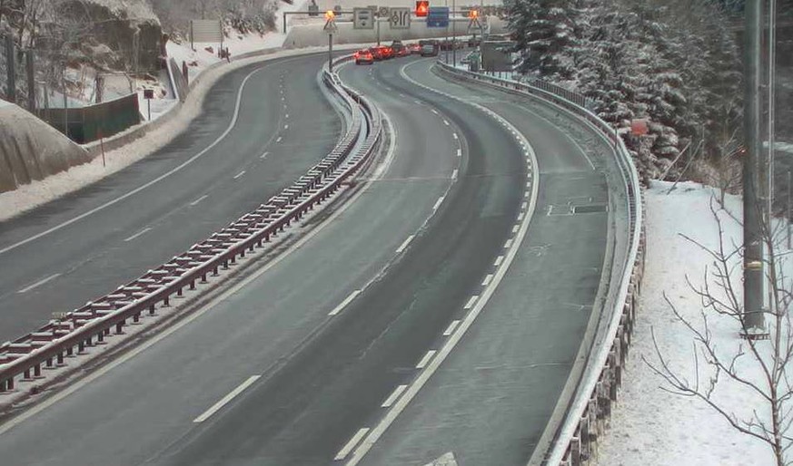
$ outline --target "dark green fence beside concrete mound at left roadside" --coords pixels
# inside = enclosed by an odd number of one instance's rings
[[[40,109],[39,115],[55,129],[80,144],[113,136],[141,122],[137,94],[87,107]],[[64,131],[64,122],[68,131]]]

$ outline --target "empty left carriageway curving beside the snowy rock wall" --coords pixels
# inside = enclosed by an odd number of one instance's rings
[[[0,342],[163,264],[321,160],[342,131],[316,82],[325,59],[284,58],[227,74],[202,115],[162,150],[0,222]]]

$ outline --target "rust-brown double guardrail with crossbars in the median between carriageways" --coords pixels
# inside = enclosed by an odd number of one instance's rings
[[[345,56],[336,62],[350,59]],[[42,378],[43,368],[62,367],[67,357],[104,344],[112,333],[122,335],[126,325],[138,323],[147,313],[154,315],[158,305],[170,306],[173,296],[206,283],[237,258],[261,248],[362,169],[382,133],[378,110],[361,95],[345,89],[337,75],[322,73],[325,85],[352,112],[352,124],[336,147],[290,187],[183,254],[35,332],[0,345],[0,396],[15,392],[17,383]]]

